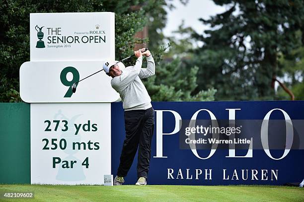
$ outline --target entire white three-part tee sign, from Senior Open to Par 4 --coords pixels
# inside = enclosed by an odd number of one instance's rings
[[[114,20],[111,12],[30,14],[20,96],[31,103],[31,184],[102,185],[111,174],[110,102],[119,94],[104,72],[74,94],[71,86],[115,60]]]

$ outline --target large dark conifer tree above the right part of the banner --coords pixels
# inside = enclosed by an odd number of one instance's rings
[[[302,0],[214,0],[228,10],[200,19],[210,25],[204,43],[188,65],[198,66],[197,91],[214,86],[217,100],[275,99],[274,81],[282,76],[279,56],[300,47],[296,33],[303,27]]]

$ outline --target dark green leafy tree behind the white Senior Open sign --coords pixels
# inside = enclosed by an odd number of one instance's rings
[[[145,10],[133,10],[132,5],[144,0],[4,0],[0,4],[0,101],[21,101],[19,67],[29,61],[29,13],[34,12],[115,12],[115,51],[118,58],[133,52],[134,34],[141,30]]]

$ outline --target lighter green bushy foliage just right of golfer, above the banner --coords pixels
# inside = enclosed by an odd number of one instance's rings
[[[169,47],[161,47],[155,58],[162,58]],[[172,49],[171,49],[172,50]],[[165,59],[156,64],[155,76],[144,80],[153,101],[213,101],[216,89],[194,93],[198,67],[187,68],[180,58]]]

